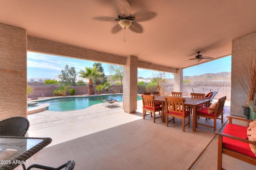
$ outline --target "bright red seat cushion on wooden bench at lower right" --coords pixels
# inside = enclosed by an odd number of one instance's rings
[[[244,126],[228,123],[223,133],[232,135],[235,137],[239,137],[242,139],[247,139],[247,127],[244,127]],[[230,139],[228,137],[223,137],[222,143],[224,148],[231,149],[236,152],[240,152],[242,154],[256,158],[255,154],[252,152],[250,145],[248,143],[237,141],[235,139]]]

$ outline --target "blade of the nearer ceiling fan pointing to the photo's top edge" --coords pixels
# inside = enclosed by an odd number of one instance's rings
[[[126,0],[112,0],[112,5],[118,16],[129,17],[132,15],[132,8]]]

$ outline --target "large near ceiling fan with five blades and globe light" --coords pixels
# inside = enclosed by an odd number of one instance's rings
[[[126,0],[112,0],[112,6],[118,14],[118,18],[114,17],[96,17],[96,20],[102,21],[118,21],[112,29],[112,33],[117,33],[122,28],[130,28],[130,30],[136,33],[142,33],[142,26],[138,23],[141,21],[147,21],[156,16],[155,12],[150,10],[141,10],[132,14],[132,8]]]

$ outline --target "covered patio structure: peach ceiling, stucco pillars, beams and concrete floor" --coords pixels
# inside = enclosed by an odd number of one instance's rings
[[[111,0],[1,2],[0,119],[28,117],[27,51],[124,66],[122,107],[116,112],[112,108],[101,111],[103,115],[98,117],[89,115],[91,119],[73,117],[63,119],[65,123],[56,121],[57,125],[51,127],[38,123],[35,126],[40,129],[33,130],[32,125],[29,136],[52,137],[53,143],[30,158],[31,164],[58,166],[76,159],[76,169],[216,169],[216,138],[212,129],[200,127],[193,132],[188,128],[182,133],[179,120],[174,127],[166,127],[162,122],[152,123],[150,118],[141,119],[141,105],[136,102],[137,69],[174,73],[174,91],[182,92],[182,70],[198,64],[189,61],[196,51],[214,59],[232,54],[232,72],[239,72],[231,77],[231,106],[226,114],[243,116],[241,106],[246,102],[246,94],[236,76],[243,77],[248,72],[241,68],[256,51],[256,3],[129,2],[134,11],[154,10],[158,18],[143,23],[145,32],[141,35],[126,31],[126,43],[122,41],[123,34],[112,35],[108,31],[114,25],[92,20],[99,15],[115,15]],[[219,124],[217,129],[221,127]],[[232,160],[226,160],[231,165]],[[241,169],[250,168],[234,161]]]

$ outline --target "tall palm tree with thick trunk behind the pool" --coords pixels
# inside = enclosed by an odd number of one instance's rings
[[[78,72],[80,75],[80,77],[82,78],[88,78],[89,79],[89,90],[88,90],[88,94],[95,94],[94,92],[94,85],[92,83],[92,80],[94,78],[97,78],[98,76],[100,76],[102,73],[98,71],[98,68],[96,67],[85,67],[85,70],[80,70]]]

